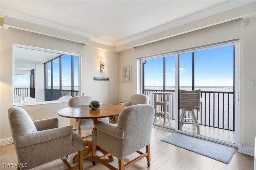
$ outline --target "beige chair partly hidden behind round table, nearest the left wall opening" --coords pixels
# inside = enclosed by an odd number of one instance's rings
[[[89,105],[93,100],[95,100],[92,96],[76,96],[73,98],[70,98],[68,100],[68,107],[72,106],[82,106],[82,105]],[[108,117],[101,118],[101,121],[109,122]],[[74,127],[74,130],[78,131],[78,134],[82,136],[82,131],[87,129],[93,129],[94,123],[92,119],[74,119],[70,118],[70,125]],[[83,137],[83,139],[86,139],[88,137],[91,137],[91,135]]]

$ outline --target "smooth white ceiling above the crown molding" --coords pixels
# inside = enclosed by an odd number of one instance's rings
[[[0,0],[1,12],[72,28],[91,40],[120,43],[156,33],[173,22],[198,20],[248,3],[246,0]],[[252,2],[252,1],[250,1]],[[192,19],[191,19],[192,18]],[[188,21],[188,22],[189,22]],[[51,24],[52,23],[52,24]],[[184,23],[182,23],[184,24]],[[162,30],[163,31],[163,30]],[[133,38],[133,39],[134,39]]]

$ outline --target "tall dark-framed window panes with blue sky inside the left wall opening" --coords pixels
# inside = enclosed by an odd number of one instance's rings
[[[79,96],[79,57],[61,55],[45,63],[45,101]]]

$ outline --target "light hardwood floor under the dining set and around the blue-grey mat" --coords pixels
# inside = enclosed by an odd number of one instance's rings
[[[174,145],[160,141],[163,137],[172,134],[162,129],[153,128],[152,139],[150,144],[151,165],[147,166],[146,158],[143,158],[130,168],[129,170],[253,170],[254,156],[249,156],[239,152],[235,152],[229,164],[224,164],[212,158],[196,154],[186,149],[176,147]],[[142,150],[144,151],[144,150]],[[100,153],[98,153],[100,154]],[[0,163],[1,170],[16,170],[16,167],[3,167],[4,164],[17,163],[17,157],[14,145],[5,145],[0,147]],[[29,156],[29,155],[28,155]],[[44,155],[42,155],[44,156]],[[136,153],[125,158],[125,162],[132,160]],[[72,162],[74,154],[68,156],[69,162]],[[111,162],[112,165],[118,167],[118,159]],[[34,168],[34,170],[64,170],[66,166],[58,159],[42,166]],[[91,155],[84,157],[84,170],[107,170],[100,163],[92,165]]]

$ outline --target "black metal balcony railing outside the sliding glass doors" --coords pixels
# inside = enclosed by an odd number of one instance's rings
[[[144,94],[163,92],[161,90],[144,90]],[[174,92],[174,90],[165,90]],[[175,94],[170,101],[170,119],[175,119]],[[201,91],[202,103],[200,111],[196,111],[196,117],[201,125],[234,131],[234,93]],[[150,105],[154,106],[154,96],[150,95]],[[181,110],[180,110],[181,113]],[[186,117],[188,117],[188,113]],[[189,118],[189,117],[188,117]]]

